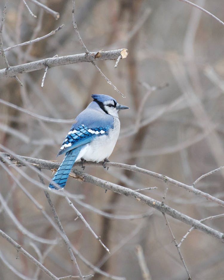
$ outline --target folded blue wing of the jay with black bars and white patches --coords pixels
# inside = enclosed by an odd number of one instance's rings
[[[89,109],[87,118],[84,110],[76,118],[76,123],[72,125],[65,137],[58,155],[87,144],[96,137],[107,134],[110,128],[113,128],[113,117],[111,115],[104,115],[102,118],[101,114],[96,116],[96,111],[91,112]]]

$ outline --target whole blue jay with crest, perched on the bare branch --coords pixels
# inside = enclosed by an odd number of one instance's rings
[[[65,153],[65,158],[50,181],[50,189],[65,187],[76,161],[109,161],[120,132],[118,112],[129,107],[108,95],[92,94],[91,97],[93,101],[76,117],[62,143],[57,156]]]

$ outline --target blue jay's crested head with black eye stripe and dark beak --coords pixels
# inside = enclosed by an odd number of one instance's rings
[[[117,117],[118,111],[123,109],[129,109],[128,106],[117,103],[113,97],[104,94],[92,94],[93,100],[99,105],[99,107],[107,114]]]

